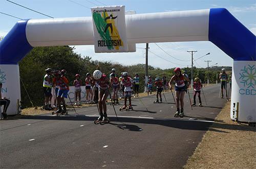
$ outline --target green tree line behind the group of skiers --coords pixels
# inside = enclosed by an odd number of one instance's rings
[[[74,47],[70,46],[51,46],[51,47],[35,47],[27,56],[19,62],[20,78],[22,82],[20,84],[22,95],[22,108],[31,107],[30,99],[34,106],[41,106],[44,103],[44,92],[42,90],[43,78],[46,74],[46,68],[52,69],[66,69],[66,77],[69,79],[72,85],[75,75],[80,74],[81,80],[84,83],[86,74],[93,74],[93,71],[100,69],[105,74],[110,74],[111,69],[115,68],[117,77],[121,76],[121,73],[127,71],[131,77],[135,74],[139,74],[140,77],[140,92],[144,91],[144,76],[145,76],[145,64],[136,64],[131,66],[124,66],[120,63],[114,63],[110,61],[98,61],[93,60],[88,56],[81,56],[74,52]],[[174,68],[161,69],[158,67],[148,66],[148,75],[153,79],[156,77],[162,78],[166,76],[167,80],[174,75]],[[223,67],[211,67],[209,68],[209,81],[215,83],[217,75],[220,73]],[[231,67],[224,67],[227,71],[231,71]],[[186,70],[189,78],[191,77],[191,68],[184,67],[182,70]],[[199,77],[203,83],[207,83],[207,68],[193,67],[194,78]],[[219,80],[218,80],[219,81]],[[29,96],[25,90],[27,89]]]

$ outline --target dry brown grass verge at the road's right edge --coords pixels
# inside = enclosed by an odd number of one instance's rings
[[[255,140],[255,127],[230,119],[229,102],[184,168],[256,168]]]

